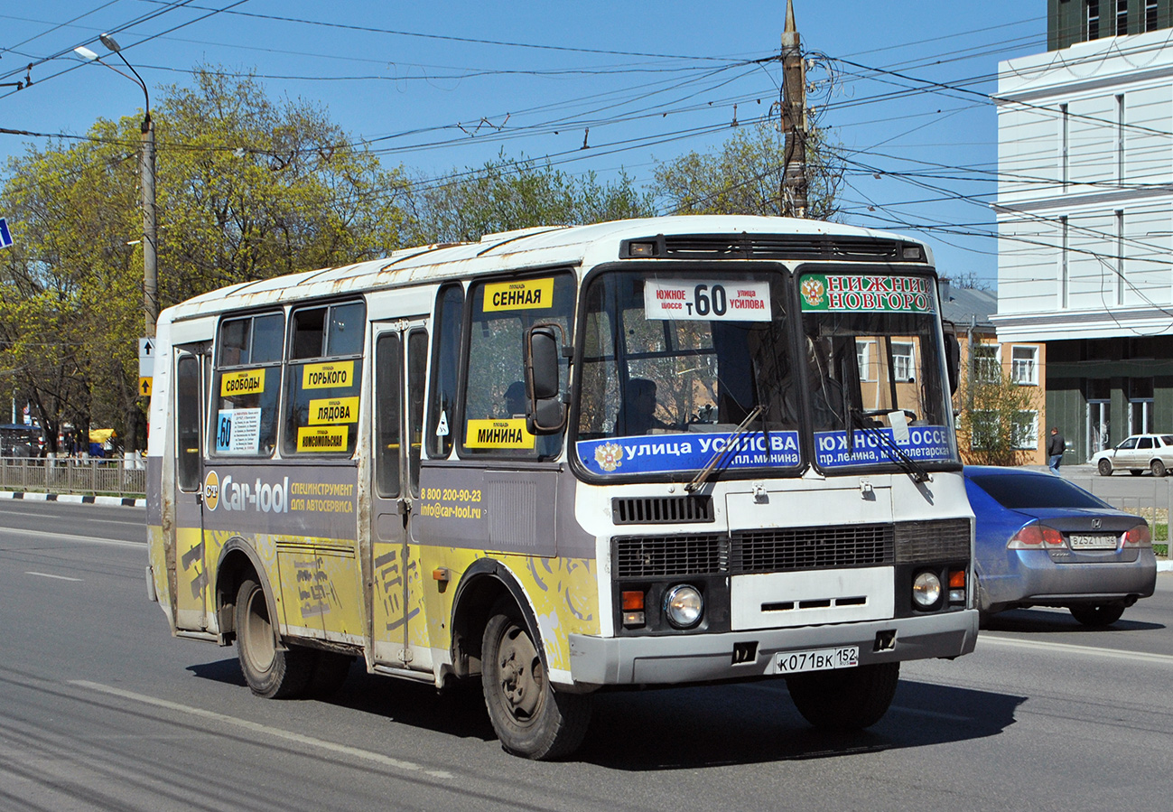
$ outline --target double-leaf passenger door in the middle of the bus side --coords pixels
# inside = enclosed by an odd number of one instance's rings
[[[374,426],[371,432],[372,631],[374,659],[394,668],[430,668],[413,655],[420,615],[420,574],[409,541],[420,495],[423,378],[428,334],[423,318],[374,325]],[[415,631],[419,637],[422,629]],[[416,661],[416,662],[413,662]]]

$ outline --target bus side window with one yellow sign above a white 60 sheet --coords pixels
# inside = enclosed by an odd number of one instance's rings
[[[221,322],[216,358],[213,453],[270,456],[277,444],[285,317],[262,313]]]

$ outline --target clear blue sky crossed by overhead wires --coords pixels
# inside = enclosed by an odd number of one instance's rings
[[[107,57],[111,32],[151,93],[204,63],[320,103],[386,165],[434,175],[502,149],[568,172],[719,144],[778,99],[784,0],[391,2],[38,0],[0,9],[0,128],[84,134],[141,110]],[[845,222],[915,234],[943,275],[994,282],[989,202],[999,60],[1046,47],[1046,2],[796,0],[811,103],[848,174]],[[110,63],[121,67],[117,57]],[[32,65],[32,69],[27,66]],[[944,87],[942,87],[944,86]],[[589,133],[588,133],[589,129]],[[588,149],[582,149],[583,143]],[[43,137],[0,134],[0,158]],[[160,160],[165,160],[161,156]],[[2,215],[4,212],[0,212]]]

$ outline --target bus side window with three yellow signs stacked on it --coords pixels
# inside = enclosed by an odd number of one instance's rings
[[[353,454],[362,380],[362,302],[294,310],[282,452]]]

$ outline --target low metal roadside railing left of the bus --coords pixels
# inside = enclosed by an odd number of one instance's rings
[[[43,490],[93,496],[143,496],[147,469],[141,460],[0,459],[0,490]]]

